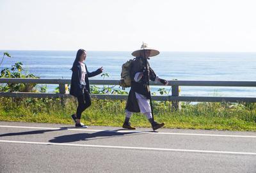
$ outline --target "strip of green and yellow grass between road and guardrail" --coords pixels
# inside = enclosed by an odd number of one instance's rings
[[[82,115],[89,125],[122,126],[124,101],[95,100]],[[73,124],[70,114],[76,112],[76,100],[37,98],[0,98],[0,121]],[[254,103],[198,103],[182,104],[182,110],[171,111],[170,102],[154,102],[156,121],[166,123],[166,128],[207,130],[256,131],[256,104]],[[131,118],[133,126],[150,127],[142,114]]]

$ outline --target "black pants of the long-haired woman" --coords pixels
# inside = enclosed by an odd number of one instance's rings
[[[87,89],[83,89],[83,95],[77,97],[78,107],[76,110],[77,119],[81,119],[82,112],[92,105],[91,97]]]

